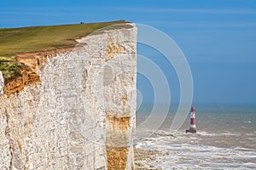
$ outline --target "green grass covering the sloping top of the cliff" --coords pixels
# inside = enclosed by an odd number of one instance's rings
[[[20,76],[21,64],[15,54],[46,51],[58,48],[72,48],[75,39],[85,37],[91,32],[122,24],[126,21],[73,24],[62,26],[33,26],[0,29],[0,71],[5,81]]]

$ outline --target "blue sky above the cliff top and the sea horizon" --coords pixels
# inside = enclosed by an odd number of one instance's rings
[[[189,62],[194,103],[256,104],[254,0],[9,0],[0,3],[0,28],[108,20],[153,26],[172,37]],[[178,102],[178,79],[165,56],[142,44],[137,45],[137,53],[160,66],[169,82],[172,102]],[[137,88],[144,102],[153,101],[153,88],[143,75],[137,77]]]

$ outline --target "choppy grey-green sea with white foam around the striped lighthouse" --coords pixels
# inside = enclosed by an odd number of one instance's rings
[[[182,127],[172,130],[177,110],[172,105],[159,128],[143,128],[152,108],[140,108],[135,148],[163,154],[136,163],[145,169],[256,169],[256,105],[194,106],[197,133],[185,133],[189,114]],[[159,123],[157,116],[154,120]]]

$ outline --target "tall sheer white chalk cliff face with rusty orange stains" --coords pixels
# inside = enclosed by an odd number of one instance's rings
[[[3,94],[0,169],[133,169],[136,38],[134,24],[83,37]]]

